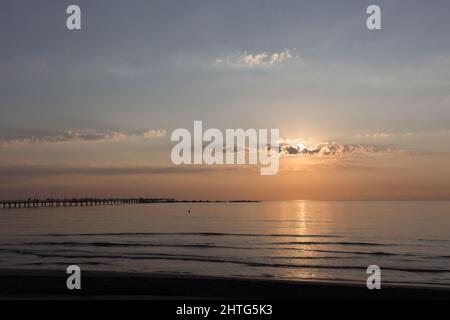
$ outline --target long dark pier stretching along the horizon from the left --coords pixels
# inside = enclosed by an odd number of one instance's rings
[[[254,200],[176,200],[165,198],[63,198],[0,200],[2,209],[49,208],[49,207],[92,207],[146,203],[234,203],[259,202]]]

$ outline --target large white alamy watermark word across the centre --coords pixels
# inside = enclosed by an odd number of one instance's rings
[[[171,141],[178,142],[170,154],[174,164],[259,164],[261,175],[278,173],[279,129],[226,129],[223,133],[210,128],[203,132],[203,122],[194,121],[193,131],[172,132]]]

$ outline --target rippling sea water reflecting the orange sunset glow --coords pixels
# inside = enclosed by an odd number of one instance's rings
[[[190,213],[188,213],[190,210]],[[286,201],[0,210],[0,269],[450,287],[450,202]],[[0,271],[1,272],[1,271]]]

